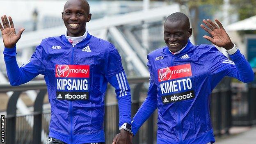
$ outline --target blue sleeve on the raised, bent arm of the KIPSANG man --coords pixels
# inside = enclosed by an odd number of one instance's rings
[[[6,71],[12,86],[22,85],[35,78],[37,75],[44,74],[46,64],[43,64],[43,62],[46,61],[41,60],[42,57],[44,57],[41,44],[37,46],[31,59],[21,65],[21,67],[18,67],[16,61],[16,46],[14,48],[5,48],[3,53]]]

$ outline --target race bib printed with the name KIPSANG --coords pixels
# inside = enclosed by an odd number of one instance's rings
[[[89,100],[89,65],[56,65],[56,98],[59,100]]]

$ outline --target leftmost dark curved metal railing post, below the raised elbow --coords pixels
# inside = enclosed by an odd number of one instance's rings
[[[14,91],[8,101],[6,117],[6,144],[16,144],[16,104],[21,91]]]

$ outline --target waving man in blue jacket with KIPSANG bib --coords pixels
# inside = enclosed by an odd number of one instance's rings
[[[51,104],[48,144],[104,144],[104,97],[107,82],[116,89],[119,104],[119,142],[131,144],[130,87],[121,57],[112,43],[90,35],[86,0],[69,0],[62,19],[66,34],[43,39],[31,59],[18,67],[16,34],[9,17],[2,16],[4,59],[10,84],[21,85],[44,75]]]

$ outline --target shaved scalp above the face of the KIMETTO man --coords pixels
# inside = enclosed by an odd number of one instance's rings
[[[185,14],[181,13],[181,12],[176,12],[176,13],[173,13],[173,14],[169,15],[165,19],[165,23],[167,21],[169,21],[169,22],[180,22],[185,27],[187,27],[187,29],[190,28],[190,21],[189,21],[188,17]]]

